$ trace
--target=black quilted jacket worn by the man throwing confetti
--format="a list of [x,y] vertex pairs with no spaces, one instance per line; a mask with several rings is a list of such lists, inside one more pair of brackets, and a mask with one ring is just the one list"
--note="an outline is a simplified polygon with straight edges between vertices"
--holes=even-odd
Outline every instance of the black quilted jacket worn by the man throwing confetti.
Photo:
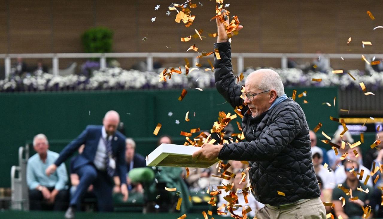
[[[230,44],[216,43],[214,48],[221,56],[214,58],[217,90],[232,107],[243,105],[241,86],[232,74]],[[243,105],[242,115],[246,142],[224,144],[218,158],[249,161],[255,198],[277,206],[319,197],[321,191],[311,162],[309,127],[300,105],[288,98],[256,118]]]

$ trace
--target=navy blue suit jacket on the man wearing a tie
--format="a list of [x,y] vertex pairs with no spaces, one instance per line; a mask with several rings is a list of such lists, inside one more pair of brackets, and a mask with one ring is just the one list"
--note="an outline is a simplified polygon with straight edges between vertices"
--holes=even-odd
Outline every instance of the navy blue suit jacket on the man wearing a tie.
[[[70,142],[60,153],[55,164],[59,166],[67,160],[82,144],[85,144],[84,151],[74,161],[73,169],[93,163],[95,159],[98,142],[101,138],[101,125],[88,125],[85,130],[72,142]],[[126,184],[126,161],[125,161],[125,136],[116,131],[112,138],[112,153],[116,160],[116,173],[118,173],[121,184]]]

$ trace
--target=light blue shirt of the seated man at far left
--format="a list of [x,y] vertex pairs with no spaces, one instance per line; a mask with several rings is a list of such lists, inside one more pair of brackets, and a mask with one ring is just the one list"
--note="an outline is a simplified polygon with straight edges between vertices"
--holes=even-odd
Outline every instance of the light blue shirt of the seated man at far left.
[[28,159],[26,166],[26,183],[29,189],[36,189],[38,185],[54,187],[57,190],[65,188],[68,182],[68,175],[64,163],[58,166],[57,170],[49,177],[45,174],[46,168],[53,164],[58,157],[58,153],[48,150],[45,163],[40,159],[38,153]]

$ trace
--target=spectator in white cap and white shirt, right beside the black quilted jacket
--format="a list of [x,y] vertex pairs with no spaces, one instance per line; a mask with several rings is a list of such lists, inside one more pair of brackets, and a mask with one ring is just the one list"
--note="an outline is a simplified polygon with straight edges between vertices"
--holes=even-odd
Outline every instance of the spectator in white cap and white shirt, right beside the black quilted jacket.
[[[323,151],[319,147],[311,147],[311,155],[313,158],[314,171],[319,176],[321,181],[321,199],[326,199],[327,202],[331,202],[332,189],[335,188],[335,175],[332,170],[324,168],[321,164],[323,161]],[[318,179],[319,182],[319,179]],[[323,196],[323,197],[322,197]],[[325,206],[326,212],[331,212],[331,206]]]

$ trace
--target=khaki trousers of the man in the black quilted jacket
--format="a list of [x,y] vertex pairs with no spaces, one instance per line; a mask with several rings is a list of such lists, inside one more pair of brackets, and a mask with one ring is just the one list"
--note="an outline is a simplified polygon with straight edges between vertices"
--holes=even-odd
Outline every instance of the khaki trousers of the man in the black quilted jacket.
[[303,199],[289,206],[265,205],[255,212],[257,219],[325,219],[326,210],[321,199]]

